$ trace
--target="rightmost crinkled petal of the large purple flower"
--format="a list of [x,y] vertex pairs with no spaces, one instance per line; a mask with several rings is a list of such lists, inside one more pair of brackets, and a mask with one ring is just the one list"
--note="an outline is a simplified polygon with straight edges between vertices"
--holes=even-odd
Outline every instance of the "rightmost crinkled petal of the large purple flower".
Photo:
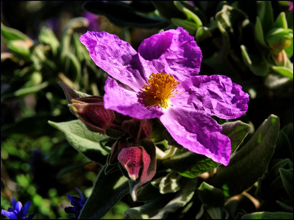
[[182,82],[181,86],[190,94],[188,104],[208,116],[238,118],[248,109],[249,95],[226,76],[195,76]]

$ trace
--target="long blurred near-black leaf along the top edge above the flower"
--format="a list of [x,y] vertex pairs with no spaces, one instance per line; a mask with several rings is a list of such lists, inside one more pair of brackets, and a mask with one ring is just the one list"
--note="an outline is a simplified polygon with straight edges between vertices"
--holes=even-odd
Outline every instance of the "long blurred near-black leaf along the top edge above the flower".
[[166,19],[146,16],[124,2],[88,1],[83,7],[91,13],[106,16],[109,21],[119,27],[163,28],[169,25]]

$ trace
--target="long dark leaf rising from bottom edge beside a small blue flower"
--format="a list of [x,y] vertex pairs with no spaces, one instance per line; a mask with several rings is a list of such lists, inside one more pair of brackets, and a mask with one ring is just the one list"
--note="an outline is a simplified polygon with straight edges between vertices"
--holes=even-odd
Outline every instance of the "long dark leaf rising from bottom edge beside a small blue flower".
[[129,191],[128,179],[120,171],[100,171],[79,219],[100,219]]

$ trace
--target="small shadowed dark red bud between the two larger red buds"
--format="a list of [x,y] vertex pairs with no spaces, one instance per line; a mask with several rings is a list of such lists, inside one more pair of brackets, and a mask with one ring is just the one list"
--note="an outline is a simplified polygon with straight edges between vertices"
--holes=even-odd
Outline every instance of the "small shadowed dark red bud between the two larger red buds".
[[122,128],[131,137],[135,139],[148,138],[152,131],[152,121],[150,119],[137,119],[133,118],[130,120],[125,120],[123,122]]

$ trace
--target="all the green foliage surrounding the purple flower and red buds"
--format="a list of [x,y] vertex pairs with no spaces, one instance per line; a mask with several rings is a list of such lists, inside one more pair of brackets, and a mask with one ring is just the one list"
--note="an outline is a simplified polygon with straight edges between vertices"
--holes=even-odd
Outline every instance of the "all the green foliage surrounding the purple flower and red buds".
[[[65,195],[78,187],[89,196],[80,219],[293,219],[288,4],[2,1],[1,208],[11,207],[14,196],[32,201],[38,219],[66,219]],[[143,140],[111,129],[103,136],[75,120],[67,104],[103,96],[108,76],[79,41],[93,22],[85,11],[99,15],[97,31],[135,49],[154,33],[183,27],[202,50],[200,75],[228,76],[249,93],[248,111],[238,121],[214,118],[231,140],[228,166],[183,148],[158,119]],[[119,123],[128,119],[116,115]],[[132,181],[119,162],[109,164],[117,138],[146,148],[148,172],[156,169],[150,181]]]

